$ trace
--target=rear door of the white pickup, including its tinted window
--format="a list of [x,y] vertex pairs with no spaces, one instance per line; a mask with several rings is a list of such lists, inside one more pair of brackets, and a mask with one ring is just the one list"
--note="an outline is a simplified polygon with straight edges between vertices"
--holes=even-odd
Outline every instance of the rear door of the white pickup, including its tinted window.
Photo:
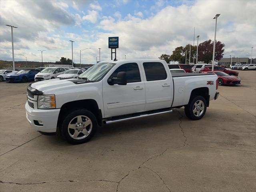
[[[146,86],[145,110],[168,108],[172,104],[172,79],[162,62],[143,62]],[[168,72],[168,74],[167,74]]]

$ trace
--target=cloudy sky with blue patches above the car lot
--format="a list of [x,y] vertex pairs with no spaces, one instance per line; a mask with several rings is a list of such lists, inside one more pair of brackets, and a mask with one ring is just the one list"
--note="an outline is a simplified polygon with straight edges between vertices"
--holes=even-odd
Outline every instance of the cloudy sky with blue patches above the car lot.
[[[214,39],[215,14],[217,40],[225,46],[224,57],[249,57],[254,46],[256,57],[255,0],[37,0],[0,2],[0,59],[12,60],[11,29],[14,29],[15,60],[55,62],[61,56],[74,62],[95,63],[94,56],[110,60],[108,37],[119,36],[117,58],[158,58],[177,46]],[[195,40],[196,44],[196,40]]]

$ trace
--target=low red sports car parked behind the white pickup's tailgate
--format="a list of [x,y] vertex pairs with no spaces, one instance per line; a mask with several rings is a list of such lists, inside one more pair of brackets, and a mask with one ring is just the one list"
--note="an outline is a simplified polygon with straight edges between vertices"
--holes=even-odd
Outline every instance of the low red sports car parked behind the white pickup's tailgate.
[[[208,71],[203,73],[212,73],[212,72]],[[241,79],[238,76],[232,76],[222,71],[214,71],[213,73],[215,73],[218,76],[219,85],[236,85],[236,84],[240,84],[241,82]]]

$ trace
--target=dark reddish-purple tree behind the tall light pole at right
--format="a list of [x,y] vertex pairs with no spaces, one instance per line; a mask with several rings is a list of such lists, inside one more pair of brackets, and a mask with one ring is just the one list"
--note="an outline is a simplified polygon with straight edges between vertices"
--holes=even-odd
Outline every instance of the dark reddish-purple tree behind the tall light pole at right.
[[[223,57],[224,46],[222,42],[218,41],[215,44],[215,55],[214,60],[218,61]],[[213,41],[207,40],[198,45],[198,61],[202,61],[204,63],[209,63],[212,61],[212,52],[213,52]]]

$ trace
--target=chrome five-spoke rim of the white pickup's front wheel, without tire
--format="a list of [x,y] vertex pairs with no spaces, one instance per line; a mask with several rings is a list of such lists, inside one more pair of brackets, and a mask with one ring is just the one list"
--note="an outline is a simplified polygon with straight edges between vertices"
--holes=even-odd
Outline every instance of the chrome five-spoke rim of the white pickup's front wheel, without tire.
[[68,134],[74,139],[86,138],[92,131],[92,121],[84,115],[73,118],[68,124]]

